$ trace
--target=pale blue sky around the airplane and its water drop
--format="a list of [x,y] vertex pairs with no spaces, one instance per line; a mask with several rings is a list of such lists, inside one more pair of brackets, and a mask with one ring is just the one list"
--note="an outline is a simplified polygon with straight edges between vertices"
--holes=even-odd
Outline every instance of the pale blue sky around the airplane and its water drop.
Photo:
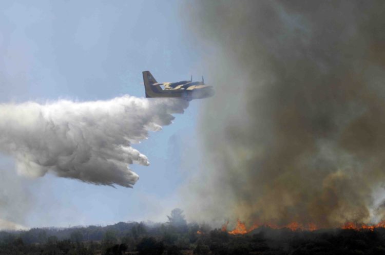
[[[143,70],[158,81],[205,75],[178,1],[2,1],[0,9],[0,103],[143,97]],[[131,166],[140,176],[133,189],[52,175],[29,180],[16,176],[10,157],[0,156],[8,181],[31,194],[28,213],[17,223],[165,221],[189,174],[180,167],[181,155],[198,157],[199,105],[191,102],[172,125],[134,145],[151,164]]]

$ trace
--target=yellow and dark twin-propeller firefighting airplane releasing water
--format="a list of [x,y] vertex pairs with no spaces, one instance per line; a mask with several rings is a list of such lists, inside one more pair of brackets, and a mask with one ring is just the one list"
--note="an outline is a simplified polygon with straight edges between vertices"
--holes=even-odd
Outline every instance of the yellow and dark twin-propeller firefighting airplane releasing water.
[[[149,71],[143,71],[146,97],[181,97],[188,101],[214,96],[213,86],[202,81],[182,80],[178,82],[158,83]],[[162,88],[162,86],[164,88]]]

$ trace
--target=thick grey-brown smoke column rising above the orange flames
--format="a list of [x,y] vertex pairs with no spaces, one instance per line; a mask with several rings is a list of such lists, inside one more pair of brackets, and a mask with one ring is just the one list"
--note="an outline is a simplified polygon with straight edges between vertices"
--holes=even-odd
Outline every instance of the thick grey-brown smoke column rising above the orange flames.
[[385,2],[200,1],[188,13],[216,87],[190,217],[370,223],[385,182]]

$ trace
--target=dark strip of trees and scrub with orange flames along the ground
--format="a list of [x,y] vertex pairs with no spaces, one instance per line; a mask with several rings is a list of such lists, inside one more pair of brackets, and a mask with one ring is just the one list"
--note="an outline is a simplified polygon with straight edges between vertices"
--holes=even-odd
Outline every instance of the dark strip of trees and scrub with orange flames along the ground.
[[[0,254],[383,254],[385,228],[345,224],[338,229],[256,225],[233,230],[205,224],[120,222],[105,227],[0,231]],[[291,227],[291,228],[290,228]],[[254,229],[253,229],[254,228]],[[242,235],[238,235],[242,234]]]

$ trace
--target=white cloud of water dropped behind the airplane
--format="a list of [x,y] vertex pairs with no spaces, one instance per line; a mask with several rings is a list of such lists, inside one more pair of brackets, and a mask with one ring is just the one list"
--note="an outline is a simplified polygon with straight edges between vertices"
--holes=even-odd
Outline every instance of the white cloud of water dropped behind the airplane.
[[12,155],[17,172],[47,172],[84,182],[132,187],[128,165],[148,165],[131,147],[183,113],[184,100],[131,96],[109,101],[0,104],[0,152]]

